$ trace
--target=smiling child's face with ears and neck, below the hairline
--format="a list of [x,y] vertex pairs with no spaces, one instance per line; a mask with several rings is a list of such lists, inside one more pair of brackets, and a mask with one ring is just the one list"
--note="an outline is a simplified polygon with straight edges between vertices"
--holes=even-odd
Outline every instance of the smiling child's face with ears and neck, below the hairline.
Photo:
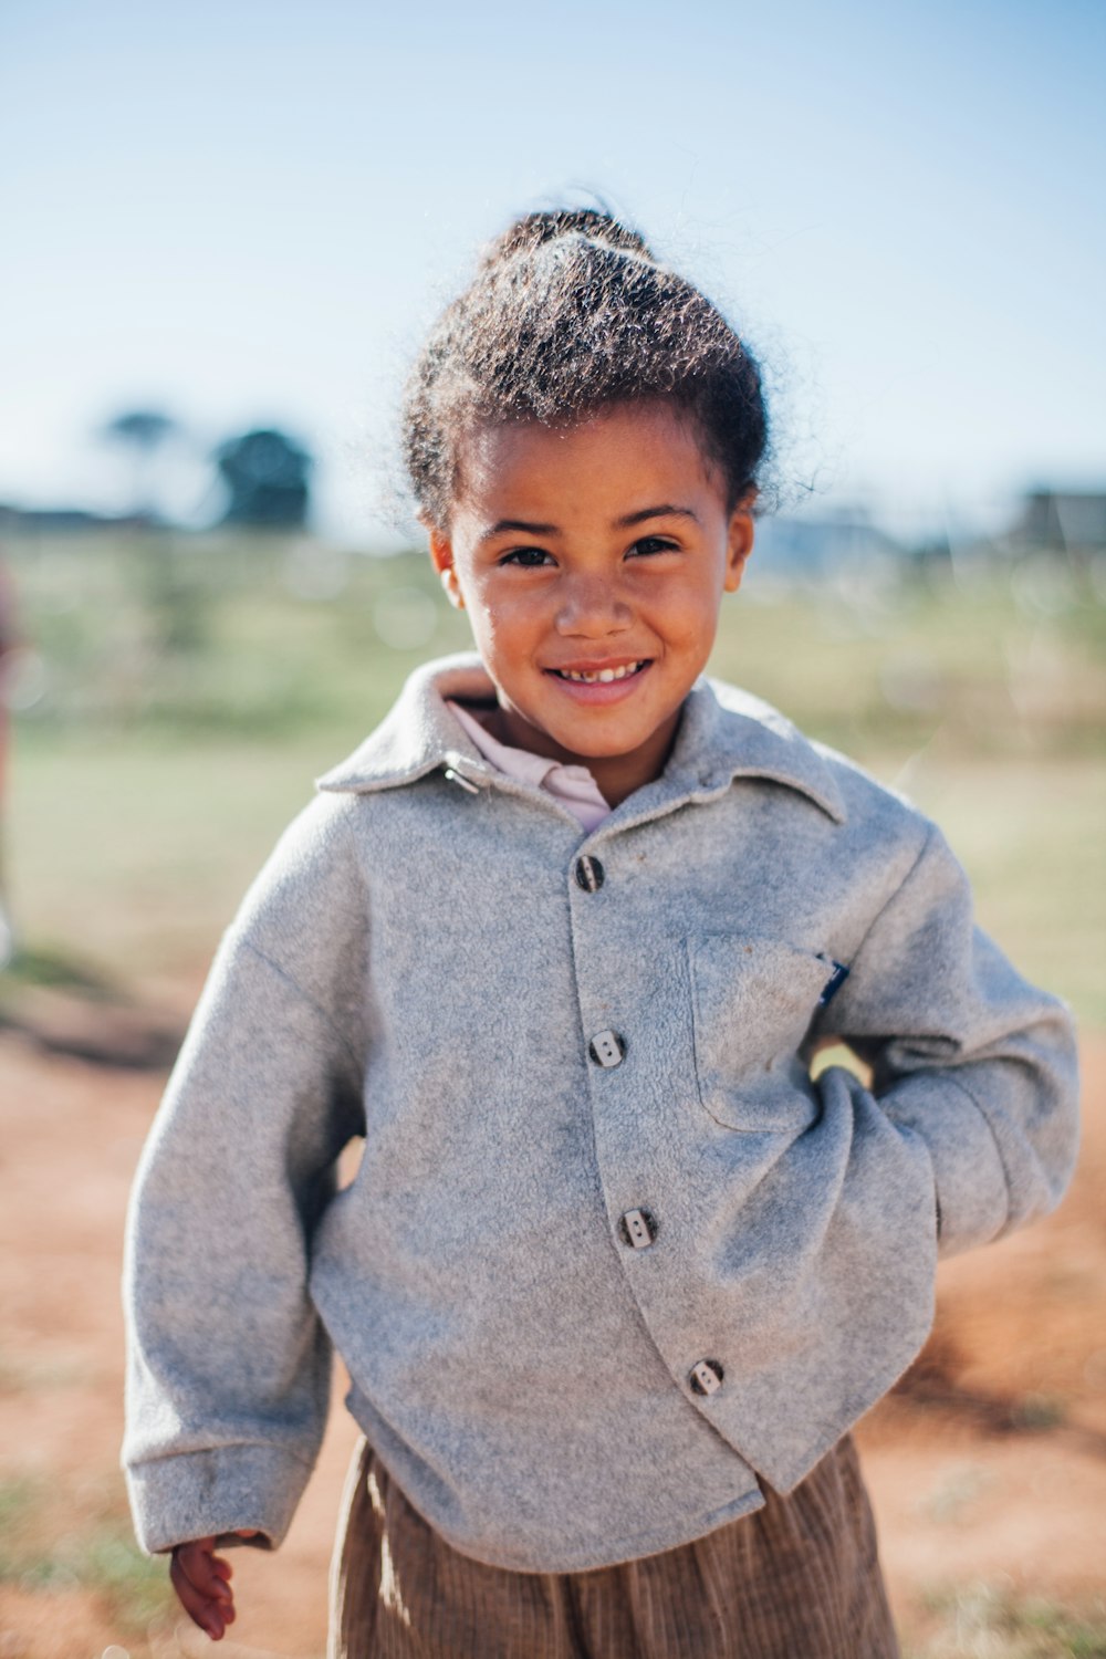
[[617,805],[658,776],[753,546],[725,486],[657,403],[577,425],[483,426],[431,557],[469,612],[494,735],[589,766]]

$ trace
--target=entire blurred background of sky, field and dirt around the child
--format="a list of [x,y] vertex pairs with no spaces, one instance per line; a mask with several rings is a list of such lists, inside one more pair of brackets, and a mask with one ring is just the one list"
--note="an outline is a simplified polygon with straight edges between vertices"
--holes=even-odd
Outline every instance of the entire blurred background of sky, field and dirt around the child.
[[[423,332],[512,216],[595,199],[766,368],[716,672],[937,816],[1083,1022],[1086,1199],[952,1264],[869,1442],[910,1651],[1106,1654],[1104,45],[1098,0],[8,0],[5,1659],[191,1651],[114,1472],[134,1156],[312,778],[468,644],[395,463]],[[237,1651],[322,1652],[340,1453]]]

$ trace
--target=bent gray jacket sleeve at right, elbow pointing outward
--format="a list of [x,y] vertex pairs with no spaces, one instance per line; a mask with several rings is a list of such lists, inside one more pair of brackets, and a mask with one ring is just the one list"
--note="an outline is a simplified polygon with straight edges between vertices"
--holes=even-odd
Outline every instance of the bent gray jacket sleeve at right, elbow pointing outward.
[[1071,1017],[973,926],[935,826],[849,967],[822,1032],[871,1065],[884,1113],[929,1150],[940,1254],[1053,1209],[1078,1148]]

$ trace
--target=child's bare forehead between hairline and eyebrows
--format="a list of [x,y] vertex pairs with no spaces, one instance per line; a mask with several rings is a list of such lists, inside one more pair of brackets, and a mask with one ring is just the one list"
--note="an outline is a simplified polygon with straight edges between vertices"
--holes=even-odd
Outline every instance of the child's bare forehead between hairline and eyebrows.
[[456,509],[478,518],[618,518],[705,496],[721,499],[723,486],[695,428],[655,403],[620,403],[564,426],[476,426],[458,455]]

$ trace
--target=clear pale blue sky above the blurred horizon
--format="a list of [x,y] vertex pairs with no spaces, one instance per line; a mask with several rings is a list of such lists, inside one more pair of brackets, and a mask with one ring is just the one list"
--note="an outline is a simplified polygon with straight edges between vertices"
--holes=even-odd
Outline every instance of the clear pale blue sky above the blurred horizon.
[[0,65],[0,501],[126,504],[90,433],[153,403],[284,423],[363,534],[421,328],[587,186],[748,330],[824,499],[1106,483],[1101,0],[8,0]]

